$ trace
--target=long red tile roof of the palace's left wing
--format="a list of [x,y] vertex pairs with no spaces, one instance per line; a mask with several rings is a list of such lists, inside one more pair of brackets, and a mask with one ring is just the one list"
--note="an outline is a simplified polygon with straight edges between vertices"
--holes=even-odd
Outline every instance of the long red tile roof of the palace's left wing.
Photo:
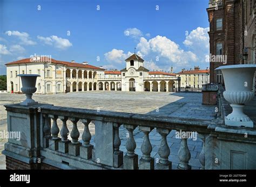
[[[12,61],[11,63],[7,63],[5,65],[12,65],[12,64],[28,64],[28,63],[35,63],[35,62],[44,62],[44,58],[41,57],[42,60],[35,60],[35,61],[31,61],[31,58],[25,58],[25,59],[21,59],[21,60],[17,60],[17,61]],[[55,63],[55,64],[62,64],[65,66],[70,66],[70,67],[82,67],[82,68],[90,68],[90,69],[96,69],[96,70],[104,70],[103,68],[100,67],[96,67],[96,66],[92,66],[89,64],[80,64],[80,63],[71,63],[69,61],[60,61],[60,60],[55,60],[53,58],[51,58],[51,63]]]

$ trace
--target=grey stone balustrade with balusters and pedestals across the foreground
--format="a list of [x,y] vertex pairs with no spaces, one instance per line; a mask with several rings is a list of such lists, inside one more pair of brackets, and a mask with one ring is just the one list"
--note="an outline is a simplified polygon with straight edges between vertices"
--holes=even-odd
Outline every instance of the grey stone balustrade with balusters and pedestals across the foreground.
[[[172,130],[177,130],[185,134],[197,133],[203,140],[203,149],[199,155],[201,169],[256,168],[252,156],[255,152],[256,130],[225,127],[221,118],[181,119],[43,104],[13,104],[5,107],[8,111],[8,130],[21,131],[21,141],[9,139],[3,154],[29,164],[37,163],[39,159],[41,163],[60,169],[172,169],[169,160],[172,149],[166,137]],[[70,129],[68,122],[72,123]],[[78,122],[84,125],[81,134],[77,128]],[[95,125],[93,140],[89,124]],[[126,140],[122,140],[125,141],[126,151],[119,149],[122,143],[120,126],[127,130]],[[135,151],[137,143],[133,131],[136,128],[143,132],[143,143],[140,146],[142,157]],[[149,134],[153,129],[161,137],[157,157],[151,154],[152,140]],[[250,140],[242,137],[245,131],[250,134]],[[180,138],[177,169],[190,170],[191,153],[187,136],[181,135]],[[223,151],[227,151],[226,155],[223,155]],[[238,165],[235,159],[240,158],[242,153],[248,156]]]

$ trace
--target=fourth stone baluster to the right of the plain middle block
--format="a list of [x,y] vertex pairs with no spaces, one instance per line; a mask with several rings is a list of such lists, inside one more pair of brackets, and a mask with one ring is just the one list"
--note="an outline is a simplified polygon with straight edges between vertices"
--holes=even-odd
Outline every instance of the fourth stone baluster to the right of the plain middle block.
[[170,148],[166,140],[166,136],[169,135],[170,131],[170,129],[157,128],[157,132],[161,135],[161,144],[158,149],[160,159],[156,164],[156,169],[172,169],[172,162],[168,160]]

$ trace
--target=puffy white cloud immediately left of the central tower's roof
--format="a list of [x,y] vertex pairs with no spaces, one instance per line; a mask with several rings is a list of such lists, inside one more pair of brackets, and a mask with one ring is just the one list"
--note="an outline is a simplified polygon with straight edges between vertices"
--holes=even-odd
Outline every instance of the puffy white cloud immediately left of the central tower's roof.
[[124,63],[124,60],[126,58],[128,58],[129,56],[131,56],[131,52],[128,52],[127,54],[124,53],[123,50],[117,50],[117,49],[113,49],[110,52],[107,52],[104,54],[105,58],[107,61],[109,61],[110,63]]

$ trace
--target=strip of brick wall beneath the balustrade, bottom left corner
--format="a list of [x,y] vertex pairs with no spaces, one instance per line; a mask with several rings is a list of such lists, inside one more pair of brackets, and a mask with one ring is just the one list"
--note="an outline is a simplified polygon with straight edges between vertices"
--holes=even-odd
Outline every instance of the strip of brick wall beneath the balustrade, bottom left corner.
[[59,169],[59,168],[53,167],[52,165],[45,164],[45,163],[28,164],[28,163],[25,163],[22,161],[18,161],[9,156],[5,156],[5,161],[6,161],[6,169],[8,169],[8,170],[31,170],[31,169],[53,170],[53,169]]

